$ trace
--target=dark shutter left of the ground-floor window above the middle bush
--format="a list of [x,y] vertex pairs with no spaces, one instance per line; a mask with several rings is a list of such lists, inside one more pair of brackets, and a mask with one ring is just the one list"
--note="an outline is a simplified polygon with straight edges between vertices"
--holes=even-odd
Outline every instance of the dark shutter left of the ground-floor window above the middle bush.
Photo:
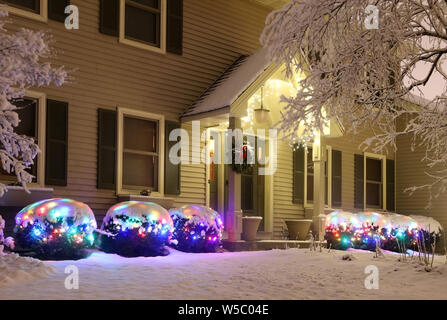
[[98,109],[98,189],[116,186],[116,111]]

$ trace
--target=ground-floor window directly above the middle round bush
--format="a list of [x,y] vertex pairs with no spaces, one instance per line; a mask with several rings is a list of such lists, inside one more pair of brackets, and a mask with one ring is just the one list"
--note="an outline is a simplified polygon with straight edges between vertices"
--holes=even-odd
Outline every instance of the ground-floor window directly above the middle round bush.
[[150,189],[163,194],[163,116],[138,111],[119,113],[118,193]]

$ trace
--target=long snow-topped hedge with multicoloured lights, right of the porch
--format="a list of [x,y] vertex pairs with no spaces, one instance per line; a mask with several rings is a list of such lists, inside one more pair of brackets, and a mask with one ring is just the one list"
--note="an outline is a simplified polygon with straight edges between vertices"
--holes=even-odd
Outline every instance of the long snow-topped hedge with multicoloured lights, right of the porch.
[[325,239],[334,249],[380,247],[396,252],[431,252],[431,246],[440,243],[442,236],[441,224],[424,216],[335,211],[326,218]]

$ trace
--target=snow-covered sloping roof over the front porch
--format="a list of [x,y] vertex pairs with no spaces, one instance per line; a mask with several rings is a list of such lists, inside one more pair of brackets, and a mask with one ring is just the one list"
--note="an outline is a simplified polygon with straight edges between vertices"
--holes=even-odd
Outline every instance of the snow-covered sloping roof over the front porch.
[[266,49],[239,57],[181,116],[230,107],[270,66]]

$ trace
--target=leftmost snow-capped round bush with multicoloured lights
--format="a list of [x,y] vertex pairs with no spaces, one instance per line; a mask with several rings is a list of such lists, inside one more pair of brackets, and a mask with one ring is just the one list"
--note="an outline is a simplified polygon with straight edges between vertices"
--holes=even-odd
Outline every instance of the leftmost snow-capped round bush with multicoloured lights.
[[48,199],[23,208],[15,218],[20,249],[39,259],[79,259],[94,243],[96,220],[88,205],[71,199]]

